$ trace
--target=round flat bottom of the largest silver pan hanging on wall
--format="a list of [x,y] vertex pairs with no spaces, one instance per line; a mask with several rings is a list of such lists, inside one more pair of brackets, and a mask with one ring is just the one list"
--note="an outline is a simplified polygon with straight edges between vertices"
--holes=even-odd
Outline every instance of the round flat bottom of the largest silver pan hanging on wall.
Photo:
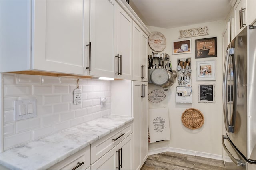
[[153,84],[162,86],[169,81],[169,75],[164,69],[154,69],[150,75]]

